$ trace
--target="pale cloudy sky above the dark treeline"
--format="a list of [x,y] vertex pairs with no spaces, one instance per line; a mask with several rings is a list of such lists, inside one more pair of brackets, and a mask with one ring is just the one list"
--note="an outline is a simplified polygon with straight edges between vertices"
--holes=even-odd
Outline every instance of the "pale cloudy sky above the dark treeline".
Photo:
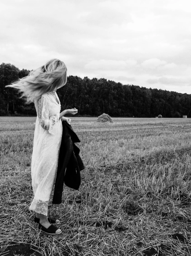
[[191,94],[189,0],[1,0],[0,64]]

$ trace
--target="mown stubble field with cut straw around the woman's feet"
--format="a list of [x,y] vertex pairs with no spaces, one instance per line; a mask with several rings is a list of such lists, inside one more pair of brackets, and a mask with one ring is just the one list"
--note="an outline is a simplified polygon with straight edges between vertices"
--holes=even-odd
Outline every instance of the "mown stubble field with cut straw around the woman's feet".
[[29,210],[36,118],[0,117],[0,256],[191,255],[191,119],[71,119],[86,168],[52,237]]

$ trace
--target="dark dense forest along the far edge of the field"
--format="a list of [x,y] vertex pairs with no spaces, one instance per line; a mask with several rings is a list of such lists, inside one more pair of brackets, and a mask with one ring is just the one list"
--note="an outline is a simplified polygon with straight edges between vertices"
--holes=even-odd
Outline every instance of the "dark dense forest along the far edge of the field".
[[[30,70],[19,70],[10,63],[0,65],[0,116],[36,116],[34,103],[26,104],[18,90],[5,87],[25,77]],[[122,85],[104,78],[68,76],[57,90],[61,111],[76,107],[76,116],[182,117],[191,108],[191,95],[137,85]],[[191,116],[191,112],[188,117]]]

